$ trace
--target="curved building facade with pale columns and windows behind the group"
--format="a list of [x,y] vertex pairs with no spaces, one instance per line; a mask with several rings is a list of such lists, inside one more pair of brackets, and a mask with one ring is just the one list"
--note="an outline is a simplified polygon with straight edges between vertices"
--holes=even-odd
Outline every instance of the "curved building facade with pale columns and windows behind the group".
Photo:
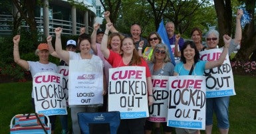
[[[86,33],[93,30],[95,20],[102,20],[101,5],[98,0],[76,0],[84,8],[77,8],[67,0],[43,0],[43,6],[35,7],[35,21],[39,34],[55,35],[55,28],[62,27],[63,34],[80,34],[80,27],[86,27]],[[0,36],[12,34],[13,16],[18,12],[12,1],[0,0]],[[19,14],[18,14],[19,15]],[[98,16],[97,16],[98,15]],[[29,27],[22,23],[21,27]]]

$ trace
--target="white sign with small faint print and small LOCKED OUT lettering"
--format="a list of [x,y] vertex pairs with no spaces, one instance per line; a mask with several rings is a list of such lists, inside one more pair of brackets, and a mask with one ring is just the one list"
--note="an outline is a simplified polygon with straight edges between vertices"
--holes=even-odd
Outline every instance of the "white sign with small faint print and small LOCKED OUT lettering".
[[70,60],[68,82],[69,105],[103,103],[102,60]]

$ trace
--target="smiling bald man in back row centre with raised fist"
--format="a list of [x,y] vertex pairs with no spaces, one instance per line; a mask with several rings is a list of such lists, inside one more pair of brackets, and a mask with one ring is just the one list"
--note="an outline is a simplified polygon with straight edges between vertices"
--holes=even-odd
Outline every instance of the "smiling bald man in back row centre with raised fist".
[[[104,17],[106,19],[106,23],[111,23],[110,18],[109,18],[110,12],[106,11],[104,13]],[[118,33],[118,31],[112,27],[112,29],[110,29],[111,33]],[[148,46],[148,40],[146,38],[143,38],[141,36],[142,33],[142,29],[140,27],[140,25],[138,23],[134,23],[132,24],[132,26],[130,27],[130,34],[123,34],[125,37],[131,37],[136,45],[136,50],[142,50],[142,52],[144,52],[144,49]],[[140,42],[143,42],[143,46],[140,47],[139,44]]]

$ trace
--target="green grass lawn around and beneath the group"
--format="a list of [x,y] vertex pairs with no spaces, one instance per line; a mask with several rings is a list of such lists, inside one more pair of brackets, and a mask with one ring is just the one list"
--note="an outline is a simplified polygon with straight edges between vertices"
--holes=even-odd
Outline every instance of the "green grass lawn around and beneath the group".
[[[229,103],[229,133],[255,133],[256,131],[256,78],[234,76],[236,96]],[[0,133],[9,133],[11,118],[19,113],[33,113],[31,107],[31,82],[0,84]],[[61,133],[57,118],[55,133]],[[69,124],[70,125],[70,124]],[[204,131],[201,131],[204,133]],[[213,134],[219,133],[216,123]]]

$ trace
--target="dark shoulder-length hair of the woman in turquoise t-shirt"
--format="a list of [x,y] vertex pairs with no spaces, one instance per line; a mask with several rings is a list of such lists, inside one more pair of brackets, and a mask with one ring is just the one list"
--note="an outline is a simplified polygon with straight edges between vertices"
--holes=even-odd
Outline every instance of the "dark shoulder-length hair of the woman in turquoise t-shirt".
[[184,49],[186,49],[188,46],[190,46],[191,48],[193,48],[195,50],[195,56],[193,57],[193,62],[196,63],[199,61],[199,51],[197,50],[195,43],[193,41],[186,41],[184,42],[183,46],[182,46],[182,56],[180,56],[180,61],[183,62],[184,64],[186,64],[186,58],[184,57]]

